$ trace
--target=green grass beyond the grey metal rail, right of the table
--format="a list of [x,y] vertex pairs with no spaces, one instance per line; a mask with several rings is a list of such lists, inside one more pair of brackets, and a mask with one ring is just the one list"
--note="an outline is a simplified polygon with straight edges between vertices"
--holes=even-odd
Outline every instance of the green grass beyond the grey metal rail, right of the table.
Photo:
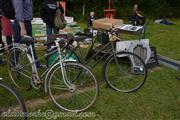
[[180,61],[180,21],[176,20],[175,23],[167,26],[150,22],[147,25],[147,36],[159,54]]

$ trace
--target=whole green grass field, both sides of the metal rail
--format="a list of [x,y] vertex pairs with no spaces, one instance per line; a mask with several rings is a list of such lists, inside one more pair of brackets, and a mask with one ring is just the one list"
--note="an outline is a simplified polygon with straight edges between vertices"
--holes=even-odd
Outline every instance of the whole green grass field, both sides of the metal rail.
[[[176,23],[174,26],[165,26],[153,24],[149,20],[146,36],[150,39],[150,45],[155,46],[159,54],[180,61],[180,20],[174,20],[174,22]],[[12,85],[6,66],[0,67],[0,75]],[[47,101],[48,94],[45,94],[43,89],[21,90],[20,93],[26,101],[32,99],[36,101],[40,98],[47,102],[39,105],[38,108],[28,107],[29,112],[52,110],[60,114],[61,117],[55,117],[58,120],[180,120],[180,81],[175,79],[175,76],[180,76],[179,71],[164,66],[149,70],[144,86],[135,93],[127,94],[107,87],[102,82],[101,68],[102,64],[99,64],[93,69],[100,83],[100,94],[95,105],[87,111],[92,112],[93,115],[90,117],[63,116],[59,113],[63,111],[56,108],[52,102]],[[40,103],[37,101],[37,104]],[[45,118],[32,117],[29,119],[44,120]]]

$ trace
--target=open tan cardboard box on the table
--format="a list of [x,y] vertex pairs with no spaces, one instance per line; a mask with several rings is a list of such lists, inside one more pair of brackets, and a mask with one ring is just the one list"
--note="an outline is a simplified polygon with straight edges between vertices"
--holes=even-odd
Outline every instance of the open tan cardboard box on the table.
[[94,29],[110,30],[123,24],[122,19],[101,18],[93,21]]

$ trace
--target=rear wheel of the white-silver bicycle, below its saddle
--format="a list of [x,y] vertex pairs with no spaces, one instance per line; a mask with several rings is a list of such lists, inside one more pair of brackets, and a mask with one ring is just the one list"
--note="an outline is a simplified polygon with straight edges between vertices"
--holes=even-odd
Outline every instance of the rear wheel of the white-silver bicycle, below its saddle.
[[17,87],[28,88],[32,79],[32,67],[27,53],[13,48],[8,56],[9,75]]

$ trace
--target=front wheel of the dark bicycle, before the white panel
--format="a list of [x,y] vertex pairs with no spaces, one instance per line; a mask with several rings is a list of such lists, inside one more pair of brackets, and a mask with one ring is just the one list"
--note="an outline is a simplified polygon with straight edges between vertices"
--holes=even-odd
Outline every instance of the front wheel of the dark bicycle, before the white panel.
[[143,86],[147,69],[144,61],[136,54],[118,52],[107,58],[102,75],[112,89],[129,93]]

